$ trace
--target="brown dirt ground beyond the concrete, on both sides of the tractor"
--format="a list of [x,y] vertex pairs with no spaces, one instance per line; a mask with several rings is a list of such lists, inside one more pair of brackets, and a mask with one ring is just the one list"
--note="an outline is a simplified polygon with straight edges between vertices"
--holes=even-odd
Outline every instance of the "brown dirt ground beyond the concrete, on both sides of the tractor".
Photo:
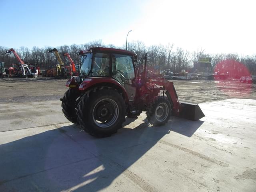
[[[58,100],[67,90],[66,79],[0,78],[0,102]],[[256,84],[238,80],[172,80],[181,102],[202,103],[229,98],[256,99]]]

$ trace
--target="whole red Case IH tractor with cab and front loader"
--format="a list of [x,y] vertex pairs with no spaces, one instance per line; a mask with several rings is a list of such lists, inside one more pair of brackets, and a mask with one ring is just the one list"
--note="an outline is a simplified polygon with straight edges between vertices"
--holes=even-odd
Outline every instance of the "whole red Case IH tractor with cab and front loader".
[[96,137],[114,134],[125,116],[146,111],[154,126],[168,122],[171,115],[199,120],[198,105],[180,103],[172,82],[163,76],[148,76],[146,56],[113,48],[80,51],[80,76],[71,77],[62,101],[66,118]]

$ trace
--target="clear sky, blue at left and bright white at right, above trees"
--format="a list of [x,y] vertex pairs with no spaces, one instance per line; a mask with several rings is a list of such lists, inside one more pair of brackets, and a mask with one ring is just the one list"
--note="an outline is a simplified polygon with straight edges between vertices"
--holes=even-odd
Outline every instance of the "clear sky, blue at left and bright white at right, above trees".
[[190,52],[256,54],[254,0],[0,0],[0,46],[102,40],[174,44]]

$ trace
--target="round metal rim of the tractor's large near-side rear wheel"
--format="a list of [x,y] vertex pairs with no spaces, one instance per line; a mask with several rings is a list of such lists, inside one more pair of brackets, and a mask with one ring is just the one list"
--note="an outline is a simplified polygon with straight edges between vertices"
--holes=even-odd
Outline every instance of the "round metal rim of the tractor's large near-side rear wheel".
[[92,110],[93,121],[101,128],[112,126],[118,119],[118,115],[118,105],[109,98],[98,101]]

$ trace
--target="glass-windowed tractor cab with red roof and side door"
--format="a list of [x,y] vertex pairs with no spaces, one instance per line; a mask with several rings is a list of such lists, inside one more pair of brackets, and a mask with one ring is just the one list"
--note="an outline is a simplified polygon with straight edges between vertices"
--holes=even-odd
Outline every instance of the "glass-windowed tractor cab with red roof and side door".
[[[80,78],[97,82],[113,82],[128,90],[128,100],[134,100],[136,95],[136,54],[113,48],[91,48],[81,51]],[[104,81],[102,81],[104,78]],[[107,81],[107,82],[106,82]],[[85,84],[85,83],[84,83]],[[79,86],[83,90],[84,84]]]

